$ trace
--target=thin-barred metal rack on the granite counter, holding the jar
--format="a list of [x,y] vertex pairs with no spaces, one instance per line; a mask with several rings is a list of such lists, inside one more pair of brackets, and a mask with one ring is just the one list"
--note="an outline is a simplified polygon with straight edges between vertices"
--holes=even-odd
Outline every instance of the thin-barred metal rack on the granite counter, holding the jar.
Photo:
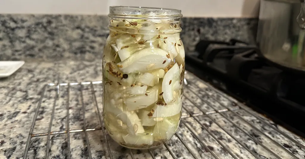
[[[196,77],[194,77],[196,78]],[[209,84],[206,84],[205,82],[201,81],[200,79],[198,79],[197,81],[199,82],[202,82],[204,83],[205,85],[207,85],[207,87],[209,89],[211,89],[212,91],[214,92],[217,92],[219,95],[221,95],[222,98],[225,98],[229,101],[233,101],[232,99],[230,99],[230,97],[224,95],[222,92],[220,92],[219,90],[213,88],[211,85]],[[189,84],[188,84],[188,83]],[[185,91],[189,91],[189,92],[192,92],[194,94],[197,95],[197,93],[194,92],[194,90],[191,88],[190,85],[196,85],[194,82],[188,80],[186,82],[185,80]],[[84,91],[84,85],[86,86],[90,86],[90,91],[91,91],[91,94],[93,95],[93,98],[94,98],[94,103],[95,103],[95,107],[97,108],[97,111],[98,111],[98,118],[99,118],[99,122],[100,122],[100,126],[99,127],[96,127],[96,128],[93,128],[93,129],[88,129],[86,127],[87,125],[87,121],[86,121],[86,117],[85,117],[85,104],[84,104],[84,95],[83,95],[83,91]],[[67,158],[70,159],[70,134],[71,133],[80,133],[80,132],[83,132],[85,134],[85,141],[86,141],[86,145],[87,145],[87,150],[88,150],[88,158],[92,158],[92,155],[91,155],[91,148],[90,148],[90,141],[89,141],[89,138],[88,138],[88,132],[89,131],[102,131],[103,133],[103,137],[106,141],[106,147],[107,147],[107,151],[108,151],[108,154],[109,156],[107,156],[106,158],[111,158],[113,159],[113,154],[112,154],[112,150],[109,146],[109,140],[112,140],[112,139],[109,139],[106,137],[106,130],[103,126],[103,119],[102,119],[102,116],[101,116],[101,111],[100,111],[100,108],[99,108],[99,105],[98,105],[98,100],[97,100],[97,96],[96,96],[96,90],[95,90],[95,86],[96,85],[102,85],[102,81],[93,81],[93,82],[80,82],[80,83],[49,83],[49,84],[46,84],[43,89],[42,89],[42,93],[41,93],[41,97],[39,99],[39,102],[38,102],[38,106],[37,106],[37,109],[36,109],[36,112],[35,112],[35,115],[34,115],[34,119],[33,119],[33,122],[32,122],[32,125],[30,127],[30,133],[29,133],[29,136],[28,136],[28,139],[27,139],[27,143],[26,143],[26,147],[25,147],[25,151],[24,151],[24,155],[23,155],[23,159],[26,159],[27,158],[27,154],[28,154],[28,151],[29,151],[29,147],[30,147],[30,143],[31,143],[31,139],[33,139],[34,137],[41,137],[41,136],[47,136],[47,143],[46,143],[46,153],[45,153],[45,158],[48,159],[49,158],[49,148],[50,148],[50,138],[52,135],[56,135],[56,134],[67,134]],[[65,86],[67,87],[67,105],[66,105],[66,119],[67,119],[67,126],[66,126],[66,130],[64,131],[51,131],[51,127],[52,127],[52,121],[53,121],[53,118],[54,118],[54,114],[55,114],[55,107],[56,107],[56,101],[57,99],[59,98],[59,94],[60,94],[60,90],[63,89],[62,86]],[[51,114],[51,120],[50,120],[50,123],[49,123],[49,127],[48,127],[48,132],[45,132],[45,133],[33,133],[33,130],[34,130],[34,126],[35,126],[35,121],[37,119],[37,116],[38,116],[38,112],[39,112],[39,109],[41,108],[41,102],[42,100],[44,99],[44,94],[46,92],[46,89],[48,87],[56,87],[56,95],[55,95],[55,99],[54,99],[54,104],[52,105],[52,114]],[[70,125],[70,114],[69,114],[69,107],[70,107],[70,90],[71,90],[71,87],[78,87],[79,88],[79,91],[80,91],[80,94],[81,94],[81,106],[82,106],[82,114],[83,114],[83,123],[84,123],[84,126],[83,126],[83,129],[76,129],[76,130],[71,130],[69,125]],[[208,95],[208,94],[207,94]],[[225,109],[219,109],[217,110],[215,108],[215,106],[213,106],[212,104],[210,104],[209,102],[207,102],[205,99],[203,99],[202,97],[200,96],[197,96],[199,99],[201,99],[205,104],[207,104],[208,106],[210,106],[210,108],[213,108],[214,110],[213,111],[204,111],[199,105],[196,104],[196,102],[192,101],[192,99],[189,97],[189,96],[186,96],[184,95],[184,100],[188,100],[189,102],[192,103],[192,105],[194,105],[196,108],[198,108],[200,110],[200,113],[195,113],[193,114],[189,109],[187,109],[184,105],[182,106],[184,111],[188,113],[188,115],[184,115],[182,116],[181,118],[181,123],[182,125],[184,125],[193,135],[193,137],[195,137],[199,143],[205,148],[205,150],[207,152],[209,152],[214,158],[216,159],[219,159],[220,156],[217,156],[217,154],[215,154],[213,152],[213,150],[211,150],[209,148],[208,145],[206,145],[206,143],[204,143],[204,141],[198,136],[198,134],[196,134],[196,132],[191,128],[191,126],[189,126],[189,124],[184,120],[186,118],[192,118],[194,119],[197,123],[199,123],[199,125],[204,129],[206,130],[216,141],[217,143],[219,143],[221,145],[221,147],[228,152],[228,154],[231,155],[231,157],[237,159],[239,158],[236,154],[234,154],[231,150],[230,150],[230,147],[228,147],[224,141],[218,139],[209,129],[206,128],[206,126],[204,124],[202,124],[198,118],[196,118],[197,116],[200,116],[200,115],[204,115],[206,117],[208,117],[211,121],[213,121],[213,123],[215,123],[217,126],[219,126],[221,128],[221,130],[223,130],[225,133],[227,133],[232,139],[234,139],[237,143],[239,143],[246,151],[248,151],[250,154],[253,155],[254,158],[261,158],[260,155],[257,153],[257,152],[254,152],[253,150],[250,150],[249,147],[247,147],[241,140],[239,140],[237,137],[235,137],[231,132],[229,132],[228,130],[226,130],[223,126],[221,126],[220,123],[218,123],[216,120],[214,120],[211,115],[212,114],[219,114],[221,115],[224,119],[226,119],[228,122],[230,122],[234,127],[236,127],[237,129],[241,130],[247,137],[251,138],[253,141],[255,141],[255,143],[257,143],[258,145],[260,145],[261,147],[264,148],[264,150],[266,150],[268,153],[272,154],[275,158],[278,158],[278,159],[281,159],[281,157],[279,156],[279,154],[277,154],[276,152],[272,151],[270,148],[268,148],[266,145],[264,145],[263,143],[261,143],[259,140],[257,140],[255,137],[253,137],[253,135],[251,135],[249,132],[247,132],[246,130],[242,129],[241,127],[239,127],[232,119],[228,118],[226,115],[224,115],[224,112],[231,112],[234,114],[234,116],[238,117],[241,121],[245,122],[246,124],[248,124],[249,126],[251,126],[254,130],[257,130],[258,132],[260,132],[261,134],[264,135],[264,137],[266,137],[267,139],[269,139],[272,143],[274,143],[275,145],[277,145],[282,151],[284,151],[285,153],[289,154],[290,157],[292,158],[296,158],[298,159],[299,157],[297,157],[294,153],[292,153],[288,148],[282,146],[280,143],[278,143],[277,141],[275,141],[274,139],[272,139],[271,137],[269,137],[267,134],[265,134],[263,131],[261,131],[259,128],[257,128],[257,126],[253,125],[252,123],[250,123],[249,121],[247,121],[246,119],[244,119],[244,117],[242,117],[239,113],[236,112],[236,110],[244,110],[246,111],[247,113],[249,113],[251,116],[257,118],[261,123],[263,123],[264,125],[272,128],[274,131],[276,131],[277,133],[283,135],[287,140],[290,140],[291,142],[293,142],[296,146],[298,146],[301,150],[305,151],[305,146],[300,143],[299,141],[295,140],[294,138],[290,137],[289,135],[287,135],[286,133],[284,133],[283,131],[277,129],[276,127],[274,127],[273,125],[271,125],[270,123],[266,122],[265,119],[261,118],[260,116],[258,116],[256,113],[250,111],[249,109],[246,108],[246,106],[244,106],[242,103],[237,103],[236,107],[228,107],[227,105],[224,105],[222,104],[221,102],[218,102],[222,107],[224,107]],[[208,95],[208,97],[212,100],[214,100],[215,102],[217,102],[217,99],[216,97],[214,97],[213,95]],[[192,155],[192,157],[198,159],[198,156],[195,155],[195,153],[190,149],[190,147],[188,147],[188,144],[187,144],[187,141],[183,140],[182,137],[178,134],[178,133],[175,133],[175,136],[181,141],[181,143],[184,145],[185,149],[188,150],[188,152]],[[167,149],[167,151],[169,152],[169,154],[174,158],[174,159],[177,159],[177,156],[174,154],[174,152],[170,149],[170,147],[168,146],[167,143],[163,143],[165,148]],[[130,157],[132,159],[135,159],[135,156],[132,152],[131,149],[128,149],[129,151],[129,154],[130,154]],[[153,150],[148,150],[148,154],[153,158],[155,159],[155,155],[153,153]]]

